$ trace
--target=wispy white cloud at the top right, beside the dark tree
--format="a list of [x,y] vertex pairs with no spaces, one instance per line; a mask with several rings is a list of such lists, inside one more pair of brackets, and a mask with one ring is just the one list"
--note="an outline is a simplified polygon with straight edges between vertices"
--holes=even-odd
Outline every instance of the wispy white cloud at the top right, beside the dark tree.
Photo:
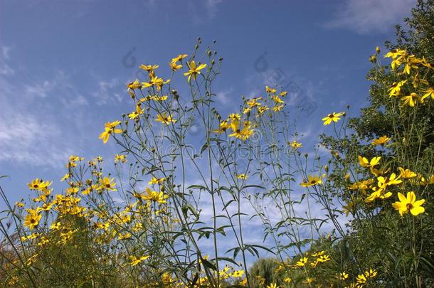
[[346,0],[327,28],[357,33],[386,32],[410,14],[416,0]]

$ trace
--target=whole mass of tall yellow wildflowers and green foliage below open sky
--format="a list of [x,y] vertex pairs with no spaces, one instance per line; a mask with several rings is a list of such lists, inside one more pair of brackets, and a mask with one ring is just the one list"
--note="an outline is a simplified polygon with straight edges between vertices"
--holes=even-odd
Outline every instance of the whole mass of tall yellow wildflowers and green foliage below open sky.
[[[223,117],[213,90],[223,59],[200,39],[169,78],[141,65],[147,77],[127,85],[132,111],[100,134],[120,147],[113,174],[100,156],[73,155],[63,191],[36,178],[29,201],[11,204],[1,190],[1,284],[432,285],[433,22],[434,2],[420,0],[386,43],[391,64],[379,48],[370,58],[369,107],[322,118],[334,132],[321,136],[325,161],[302,154],[280,87]],[[248,238],[253,221],[262,242]],[[260,255],[272,258],[249,269]]]

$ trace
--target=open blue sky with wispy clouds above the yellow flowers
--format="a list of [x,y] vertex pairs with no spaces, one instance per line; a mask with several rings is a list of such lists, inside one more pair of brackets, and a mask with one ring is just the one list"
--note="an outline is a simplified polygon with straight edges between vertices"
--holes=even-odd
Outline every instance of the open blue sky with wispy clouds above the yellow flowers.
[[[366,105],[369,55],[414,2],[1,1],[0,175],[9,175],[1,186],[16,201],[32,178],[63,176],[70,154],[112,159],[120,150],[97,136],[130,112],[125,84],[142,63],[163,67],[190,53],[198,36],[204,46],[215,39],[224,58],[221,112],[280,71],[317,104],[309,114],[293,107],[313,146],[324,115]],[[261,56],[267,69],[258,70]]]

